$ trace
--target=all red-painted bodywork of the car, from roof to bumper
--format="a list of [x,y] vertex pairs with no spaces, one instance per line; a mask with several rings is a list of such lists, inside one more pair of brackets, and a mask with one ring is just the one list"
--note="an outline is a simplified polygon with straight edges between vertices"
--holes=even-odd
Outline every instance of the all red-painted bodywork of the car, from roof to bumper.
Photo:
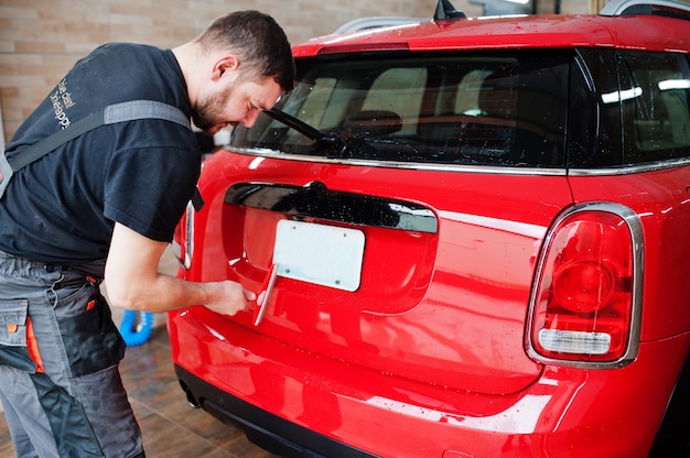
[[[687,54],[690,28],[653,17],[645,26],[636,17],[436,21],[324,36],[293,52],[299,62],[377,50],[579,46]],[[255,303],[234,317],[201,306],[170,313],[173,362],[216,394],[362,450],[352,456],[646,456],[687,371],[688,163],[474,168],[231,146],[215,153],[198,183],[205,205],[181,222],[192,229],[177,237],[188,251],[179,276],[259,292],[279,222],[297,220],[360,232],[360,283],[343,291],[278,276],[259,325]],[[260,201],[268,195],[252,205],[229,197],[242,186],[409,205],[434,226],[295,217],[268,209]],[[635,275],[621,282],[640,282],[629,292],[639,314],[630,319],[633,357],[603,364],[538,355],[530,336],[550,235],[563,215],[592,204],[625,210],[619,226],[629,226],[632,251],[642,253]],[[216,394],[193,396],[223,407]]]

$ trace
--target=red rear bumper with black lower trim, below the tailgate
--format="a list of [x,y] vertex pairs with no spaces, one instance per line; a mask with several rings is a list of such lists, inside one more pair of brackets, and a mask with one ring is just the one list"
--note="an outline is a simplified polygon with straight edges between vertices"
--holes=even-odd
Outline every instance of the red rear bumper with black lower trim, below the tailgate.
[[177,374],[202,407],[265,448],[310,457],[645,457],[688,351],[687,336],[645,344],[623,369],[546,367],[528,389],[488,395],[376,373],[226,320],[220,334],[188,312],[169,328]]

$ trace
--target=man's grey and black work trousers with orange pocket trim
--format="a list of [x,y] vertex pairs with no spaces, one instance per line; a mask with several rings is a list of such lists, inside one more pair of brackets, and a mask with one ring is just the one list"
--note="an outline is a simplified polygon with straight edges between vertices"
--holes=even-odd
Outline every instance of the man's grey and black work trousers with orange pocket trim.
[[0,252],[0,401],[18,458],[141,458],[98,281]]

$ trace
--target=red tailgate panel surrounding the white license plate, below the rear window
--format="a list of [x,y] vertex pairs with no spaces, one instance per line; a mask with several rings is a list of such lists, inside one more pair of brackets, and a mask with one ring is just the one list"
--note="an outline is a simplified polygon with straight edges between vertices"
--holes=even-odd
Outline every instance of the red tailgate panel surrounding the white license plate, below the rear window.
[[[202,265],[190,280],[231,279],[259,291],[268,274],[276,223],[285,217],[225,204],[231,184],[302,187],[319,178],[328,189],[403,200],[424,196],[424,206],[438,216],[438,235],[363,228],[367,250],[355,293],[280,277],[262,334],[382,372],[418,373],[420,381],[477,392],[513,393],[540,373],[522,349],[524,307],[540,239],[571,204],[564,177],[304,164],[230,152],[212,156],[204,168],[204,177],[213,178],[200,181],[206,203],[195,223],[205,233],[196,236],[224,243],[195,244],[194,258]],[[496,188],[510,189],[500,205],[494,203]],[[535,206],[543,188],[550,189],[549,197]],[[251,326],[252,313],[236,320]],[[489,339],[486,326],[495,329]],[[409,342],[401,346],[391,336],[406,336]],[[464,336],[463,341],[454,336]],[[405,347],[424,351],[406,355]]]

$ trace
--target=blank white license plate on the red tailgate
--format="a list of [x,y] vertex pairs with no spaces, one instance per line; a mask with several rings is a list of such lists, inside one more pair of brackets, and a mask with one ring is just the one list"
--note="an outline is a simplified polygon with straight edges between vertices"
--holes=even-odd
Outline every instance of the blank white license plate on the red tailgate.
[[356,291],[364,242],[360,230],[283,219],[276,228],[273,264],[280,276]]

